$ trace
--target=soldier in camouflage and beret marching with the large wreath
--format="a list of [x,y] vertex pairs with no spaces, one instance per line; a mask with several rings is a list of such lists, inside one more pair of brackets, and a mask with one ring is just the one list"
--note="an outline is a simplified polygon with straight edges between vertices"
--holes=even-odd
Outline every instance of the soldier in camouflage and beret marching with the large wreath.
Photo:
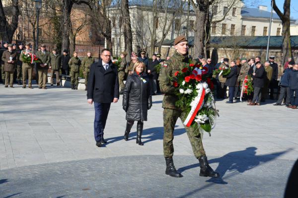
[[[172,85],[171,78],[175,77],[175,72],[181,71],[184,67],[187,67],[190,62],[195,63],[195,60],[188,57],[188,42],[185,36],[178,36],[174,41],[174,47],[176,51],[169,60],[162,64],[158,80],[160,91],[164,93],[162,108],[164,128],[163,153],[166,161],[165,174],[171,177],[182,177],[182,175],[177,172],[172,158],[174,153],[173,132],[177,119],[180,117],[183,122],[187,116],[187,112],[175,106],[175,102],[178,98],[175,95],[175,88]],[[194,155],[200,162],[200,176],[219,177],[219,174],[214,172],[208,164],[199,130],[186,126],[185,130],[193,148]]]

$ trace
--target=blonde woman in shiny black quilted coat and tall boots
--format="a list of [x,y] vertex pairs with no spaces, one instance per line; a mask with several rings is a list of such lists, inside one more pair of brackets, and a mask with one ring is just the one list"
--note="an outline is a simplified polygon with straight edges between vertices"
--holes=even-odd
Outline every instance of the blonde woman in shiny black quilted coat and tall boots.
[[149,75],[146,74],[146,66],[143,62],[137,61],[134,64],[134,73],[127,77],[123,90],[122,106],[126,112],[126,130],[124,140],[128,135],[135,121],[137,124],[137,144],[143,145],[141,138],[144,121],[147,121],[147,110],[152,106]]

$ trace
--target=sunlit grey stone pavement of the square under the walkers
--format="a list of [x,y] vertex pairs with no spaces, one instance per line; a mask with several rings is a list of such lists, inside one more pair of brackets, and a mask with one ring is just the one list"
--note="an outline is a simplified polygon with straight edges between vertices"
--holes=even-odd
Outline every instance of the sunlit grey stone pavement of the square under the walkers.
[[162,96],[153,96],[143,147],[136,126],[123,140],[122,98],[111,105],[103,148],[95,146],[94,109],[86,92],[0,85],[0,198],[283,197],[298,158],[297,110],[217,101],[220,117],[203,144],[220,179],[199,177],[181,121],[174,162],[183,178],[164,174]]

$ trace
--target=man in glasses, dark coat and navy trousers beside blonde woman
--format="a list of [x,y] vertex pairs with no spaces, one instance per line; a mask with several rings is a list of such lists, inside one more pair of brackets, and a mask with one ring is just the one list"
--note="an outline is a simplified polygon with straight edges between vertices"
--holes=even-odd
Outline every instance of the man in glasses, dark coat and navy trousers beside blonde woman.
[[118,68],[111,61],[110,50],[103,49],[100,57],[98,62],[90,66],[87,85],[87,102],[94,102],[94,138],[97,147],[106,143],[103,130],[111,102],[117,102],[119,99]]

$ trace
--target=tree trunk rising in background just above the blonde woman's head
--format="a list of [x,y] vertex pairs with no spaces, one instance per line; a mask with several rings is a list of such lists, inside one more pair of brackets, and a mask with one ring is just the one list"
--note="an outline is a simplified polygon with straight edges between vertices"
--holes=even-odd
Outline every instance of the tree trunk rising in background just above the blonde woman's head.
[[[121,0],[121,12],[124,30],[124,49],[127,52],[127,54],[131,54],[133,51],[133,34],[129,15],[128,0]],[[129,58],[130,56],[127,57]]]

